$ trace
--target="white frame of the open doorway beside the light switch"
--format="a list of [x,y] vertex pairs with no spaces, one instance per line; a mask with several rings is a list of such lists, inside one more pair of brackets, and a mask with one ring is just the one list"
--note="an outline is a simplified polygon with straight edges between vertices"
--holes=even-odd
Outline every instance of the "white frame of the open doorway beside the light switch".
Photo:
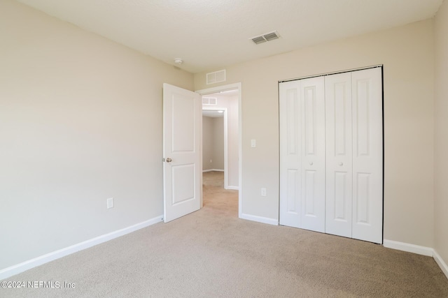
[[[242,154],[241,154],[241,144],[242,144],[242,126],[241,126],[241,83],[235,83],[235,84],[228,84],[218,87],[212,87],[207,89],[201,89],[197,90],[196,92],[200,94],[201,96],[204,96],[206,94],[212,94],[217,93],[220,91],[228,91],[228,90],[238,90],[238,217],[241,218],[241,210],[242,210],[242,193],[243,193],[243,185],[242,185],[242,179],[241,179],[241,165],[242,165]],[[201,150],[201,161],[202,161],[202,150]]]

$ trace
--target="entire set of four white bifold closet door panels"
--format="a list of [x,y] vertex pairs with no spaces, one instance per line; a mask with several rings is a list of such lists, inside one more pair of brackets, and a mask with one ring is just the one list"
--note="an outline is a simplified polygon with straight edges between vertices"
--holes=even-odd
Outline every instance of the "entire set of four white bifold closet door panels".
[[281,225],[382,243],[381,71],[279,84]]

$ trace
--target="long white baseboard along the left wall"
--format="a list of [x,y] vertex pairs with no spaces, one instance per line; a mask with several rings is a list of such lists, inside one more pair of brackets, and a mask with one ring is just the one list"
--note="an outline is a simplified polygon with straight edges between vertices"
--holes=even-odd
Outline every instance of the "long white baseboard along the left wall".
[[43,265],[47,262],[51,262],[52,260],[56,260],[56,259],[65,257],[66,255],[71,255],[72,253],[76,253],[77,251],[82,251],[86,248],[90,248],[97,244],[102,244],[103,242],[121,237],[125,234],[135,232],[137,230],[140,230],[141,228],[146,228],[155,223],[160,223],[161,221],[163,221],[162,215],[157,216],[155,218],[151,218],[148,221],[144,221],[143,223],[137,223],[135,225],[131,225],[130,227],[116,230],[114,232],[110,232],[110,233],[107,233],[107,234],[104,234],[104,235],[101,235],[98,237],[94,237],[92,239],[80,242],[78,244],[74,244],[72,246],[68,246],[66,248],[61,248],[57,251],[53,251],[52,253],[47,253],[45,255],[41,255],[40,257],[31,259],[31,260],[27,260],[20,264],[13,265],[13,266],[7,267],[5,269],[1,269],[0,270],[0,280],[2,280],[4,278],[8,278],[10,276],[13,276],[15,274],[20,274],[23,271]]

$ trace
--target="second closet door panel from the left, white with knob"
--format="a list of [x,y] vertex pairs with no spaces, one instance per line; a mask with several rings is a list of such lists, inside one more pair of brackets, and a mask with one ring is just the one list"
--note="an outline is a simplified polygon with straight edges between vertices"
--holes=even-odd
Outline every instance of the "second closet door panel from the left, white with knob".
[[325,232],[325,90],[324,78],[301,80],[302,228]]

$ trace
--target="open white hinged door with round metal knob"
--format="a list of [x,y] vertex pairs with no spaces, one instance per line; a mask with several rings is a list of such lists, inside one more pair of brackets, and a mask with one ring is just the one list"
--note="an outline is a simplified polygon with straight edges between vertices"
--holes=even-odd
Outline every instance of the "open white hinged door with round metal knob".
[[200,209],[201,124],[200,94],[163,84],[165,223]]

